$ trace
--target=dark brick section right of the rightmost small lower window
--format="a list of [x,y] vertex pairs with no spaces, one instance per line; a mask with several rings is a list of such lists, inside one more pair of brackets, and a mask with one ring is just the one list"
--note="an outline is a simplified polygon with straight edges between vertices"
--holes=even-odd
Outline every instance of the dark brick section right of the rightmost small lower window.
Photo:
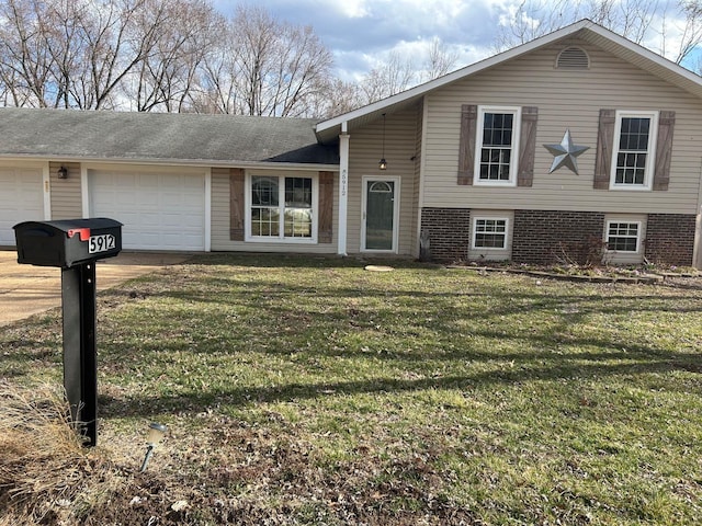
[[652,263],[691,266],[695,217],[688,214],[648,214],[646,259]]

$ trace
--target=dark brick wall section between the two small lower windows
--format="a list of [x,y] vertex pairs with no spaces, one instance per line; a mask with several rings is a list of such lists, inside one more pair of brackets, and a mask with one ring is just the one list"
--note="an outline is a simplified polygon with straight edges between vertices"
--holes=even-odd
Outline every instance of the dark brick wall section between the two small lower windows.
[[604,214],[598,211],[514,210],[512,261],[598,263],[603,230]]

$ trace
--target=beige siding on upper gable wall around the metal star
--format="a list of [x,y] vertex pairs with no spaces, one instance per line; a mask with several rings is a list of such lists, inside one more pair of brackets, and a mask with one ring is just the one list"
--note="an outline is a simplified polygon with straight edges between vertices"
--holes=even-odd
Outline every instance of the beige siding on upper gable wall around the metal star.
[[[588,70],[555,69],[557,54],[580,45]],[[423,206],[697,214],[702,104],[687,92],[603,50],[570,39],[502,64],[427,98]],[[539,107],[532,187],[476,187],[456,184],[461,105]],[[675,111],[670,186],[666,192],[593,190],[600,108]],[[567,168],[548,174],[553,156],[544,144],[561,142],[570,129],[579,175]]]

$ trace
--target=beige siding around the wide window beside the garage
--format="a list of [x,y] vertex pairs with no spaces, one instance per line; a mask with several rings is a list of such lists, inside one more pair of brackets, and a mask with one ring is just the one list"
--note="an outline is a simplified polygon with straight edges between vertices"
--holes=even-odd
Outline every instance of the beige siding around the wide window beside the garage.
[[[282,170],[280,172],[267,171],[247,171],[247,174],[313,174],[318,172],[304,171],[293,172],[291,170]],[[229,169],[213,168],[212,169],[212,250],[213,251],[240,251],[240,252],[294,252],[308,254],[336,254],[337,253],[337,232],[339,225],[339,175],[335,173],[333,183],[333,237],[331,243],[264,243],[264,242],[247,242],[231,241],[229,239]]]

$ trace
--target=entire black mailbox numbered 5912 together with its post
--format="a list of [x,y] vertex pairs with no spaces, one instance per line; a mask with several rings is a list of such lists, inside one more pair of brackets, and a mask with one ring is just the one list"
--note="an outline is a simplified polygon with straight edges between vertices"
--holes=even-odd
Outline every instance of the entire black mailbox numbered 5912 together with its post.
[[14,226],[18,262],[61,268],[64,387],[71,420],[98,444],[95,262],[122,250],[114,219],[25,221]]

